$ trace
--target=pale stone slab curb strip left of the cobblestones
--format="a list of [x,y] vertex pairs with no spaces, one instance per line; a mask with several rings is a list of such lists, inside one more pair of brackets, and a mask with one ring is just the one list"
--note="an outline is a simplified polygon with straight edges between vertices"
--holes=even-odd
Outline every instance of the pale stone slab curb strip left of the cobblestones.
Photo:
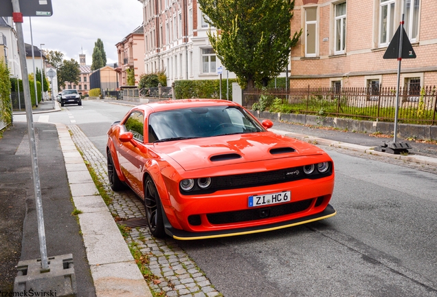
[[56,124],[96,295],[152,296],[65,124]]

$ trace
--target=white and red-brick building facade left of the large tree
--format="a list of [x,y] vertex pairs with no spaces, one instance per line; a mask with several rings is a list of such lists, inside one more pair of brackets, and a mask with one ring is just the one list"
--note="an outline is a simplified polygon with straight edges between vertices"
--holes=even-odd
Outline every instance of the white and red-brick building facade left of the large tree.
[[[222,65],[196,0],[139,1],[144,8],[145,73],[165,71],[167,85],[175,80],[219,78],[217,68]],[[235,78],[222,69],[224,77]]]

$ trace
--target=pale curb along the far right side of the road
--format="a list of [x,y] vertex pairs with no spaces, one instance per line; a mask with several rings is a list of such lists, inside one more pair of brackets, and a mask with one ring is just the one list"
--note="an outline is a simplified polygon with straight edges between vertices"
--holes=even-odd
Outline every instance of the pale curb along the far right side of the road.
[[346,142],[337,142],[334,140],[326,140],[326,139],[320,138],[320,137],[313,137],[313,136],[308,136],[308,135],[304,135],[304,134],[292,133],[292,132],[281,131],[281,130],[276,130],[276,129],[269,129],[269,131],[276,133],[276,134],[284,135],[287,137],[295,138],[298,140],[303,140],[304,142],[309,142],[311,144],[323,144],[323,145],[327,145],[327,146],[335,146],[338,148],[348,148],[348,149],[353,150],[353,151],[359,151],[359,152],[368,153],[371,155],[380,155],[383,157],[391,157],[393,159],[403,159],[405,161],[416,162],[419,164],[437,166],[437,159],[434,157],[427,157],[427,156],[423,156],[423,155],[394,155],[394,154],[390,154],[390,153],[383,153],[383,152],[379,152],[379,151],[374,151],[374,147],[372,147],[372,146],[361,146],[359,144],[348,144]]

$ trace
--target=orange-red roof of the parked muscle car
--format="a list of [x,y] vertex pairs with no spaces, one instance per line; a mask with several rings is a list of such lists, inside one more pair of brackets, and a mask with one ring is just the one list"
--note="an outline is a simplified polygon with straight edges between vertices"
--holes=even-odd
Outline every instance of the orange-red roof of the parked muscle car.
[[148,104],[138,105],[136,109],[145,110],[147,108],[153,109],[153,111],[166,111],[172,109],[183,109],[190,107],[212,107],[219,105],[227,106],[240,106],[235,102],[228,100],[214,100],[214,99],[180,99],[180,100],[166,100],[153,102]]

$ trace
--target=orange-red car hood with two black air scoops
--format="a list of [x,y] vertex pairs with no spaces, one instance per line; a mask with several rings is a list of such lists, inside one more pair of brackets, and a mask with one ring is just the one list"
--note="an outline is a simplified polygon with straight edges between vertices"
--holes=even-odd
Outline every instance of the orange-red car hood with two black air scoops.
[[157,142],[155,149],[184,170],[324,153],[317,146],[272,132]]

